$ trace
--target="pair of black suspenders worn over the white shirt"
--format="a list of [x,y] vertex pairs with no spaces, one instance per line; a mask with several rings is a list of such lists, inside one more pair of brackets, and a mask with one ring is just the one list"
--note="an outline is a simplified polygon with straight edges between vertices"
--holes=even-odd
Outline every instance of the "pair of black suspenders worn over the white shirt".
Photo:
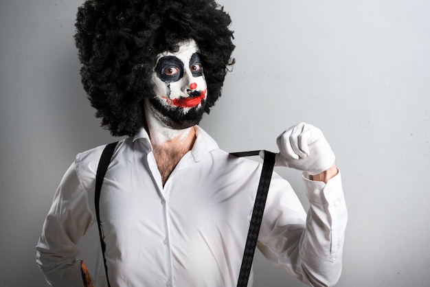
[[[104,175],[106,174],[106,170],[109,167],[109,163],[111,162],[111,158],[112,158],[113,152],[115,151],[116,146],[117,146],[117,142],[109,143],[104,148],[102,152],[102,156],[100,157],[100,161],[98,163],[97,174],[95,175],[95,198],[94,198],[95,214],[97,216],[100,244],[102,246],[104,271],[106,272],[106,280],[109,287],[111,286],[111,284],[109,283],[106,256],[104,254],[106,251],[106,244],[104,242],[102,222],[100,221],[99,202],[100,202],[100,192],[102,190]],[[238,157],[241,157],[241,156],[246,157],[249,155],[256,155],[256,152],[238,152],[238,153],[235,153],[234,155]],[[256,201],[254,203],[251,222],[249,224],[247,242],[245,244],[245,251],[243,252],[242,265],[240,266],[240,273],[239,273],[237,287],[246,287],[248,285],[249,273],[251,273],[253,256],[256,251],[258,233],[260,232],[264,206],[266,205],[267,193],[269,192],[269,185],[271,181],[271,175],[273,172],[273,165],[275,165],[275,154],[273,152],[268,152],[265,150],[260,182],[258,183]]]

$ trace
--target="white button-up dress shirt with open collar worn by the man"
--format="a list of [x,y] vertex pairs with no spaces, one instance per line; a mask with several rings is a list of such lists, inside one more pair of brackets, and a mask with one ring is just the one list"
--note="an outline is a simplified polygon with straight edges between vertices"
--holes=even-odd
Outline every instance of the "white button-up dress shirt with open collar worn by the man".
[[[83,285],[76,244],[96,223],[103,148],[78,154],[45,220],[37,263],[53,286]],[[111,286],[236,286],[261,168],[220,150],[197,126],[192,150],[163,187],[146,130],[120,141],[100,196]],[[327,184],[303,178],[307,219],[291,185],[273,173],[258,249],[302,282],[332,286],[347,220],[340,172]],[[93,279],[106,286],[101,255]]]

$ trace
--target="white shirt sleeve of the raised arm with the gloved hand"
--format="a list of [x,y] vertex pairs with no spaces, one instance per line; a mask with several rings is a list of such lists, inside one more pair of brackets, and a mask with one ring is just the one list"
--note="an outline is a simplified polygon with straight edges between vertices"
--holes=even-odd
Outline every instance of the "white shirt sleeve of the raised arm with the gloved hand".
[[341,275],[348,218],[341,174],[328,183],[304,174],[307,215],[291,186],[273,181],[258,239],[267,259],[310,286],[334,286]]

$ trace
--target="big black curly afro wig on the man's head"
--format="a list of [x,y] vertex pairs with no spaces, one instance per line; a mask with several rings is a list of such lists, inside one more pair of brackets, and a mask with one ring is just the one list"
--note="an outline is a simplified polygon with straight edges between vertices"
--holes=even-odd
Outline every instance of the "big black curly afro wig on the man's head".
[[87,0],[76,21],[80,74],[96,117],[114,136],[144,125],[144,98],[155,97],[156,57],[194,39],[207,82],[205,112],[221,94],[234,45],[229,15],[214,0]]

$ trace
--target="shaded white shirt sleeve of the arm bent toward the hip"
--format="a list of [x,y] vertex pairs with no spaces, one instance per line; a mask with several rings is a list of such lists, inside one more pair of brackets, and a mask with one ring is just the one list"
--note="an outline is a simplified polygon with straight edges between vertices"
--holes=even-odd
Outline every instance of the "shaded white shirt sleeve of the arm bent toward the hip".
[[76,244],[93,223],[73,163],[63,176],[36,246],[36,263],[52,286],[84,286]]

